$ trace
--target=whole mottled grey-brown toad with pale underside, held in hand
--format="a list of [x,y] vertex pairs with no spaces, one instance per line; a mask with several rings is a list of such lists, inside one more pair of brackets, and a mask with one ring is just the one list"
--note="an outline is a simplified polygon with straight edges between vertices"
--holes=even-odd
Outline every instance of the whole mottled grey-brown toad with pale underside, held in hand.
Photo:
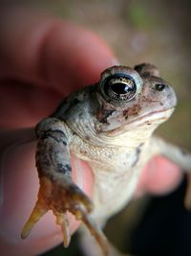
[[[107,220],[129,202],[148,160],[163,154],[183,170],[191,167],[188,152],[152,135],[176,104],[173,88],[159,78],[159,70],[151,64],[108,68],[96,84],[65,99],[51,117],[36,126],[40,188],[22,238],[48,210],[53,210],[68,246],[71,234],[67,212],[71,212],[87,225],[102,254],[111,255],[96,220]],[[94,172],[92,199],[72,180],[71,153],[86,160]]]

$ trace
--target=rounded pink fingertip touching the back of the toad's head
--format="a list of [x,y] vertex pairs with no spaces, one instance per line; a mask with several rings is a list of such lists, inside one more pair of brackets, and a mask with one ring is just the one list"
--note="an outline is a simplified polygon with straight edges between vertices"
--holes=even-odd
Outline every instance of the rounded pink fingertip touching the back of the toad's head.
[[46,37],[41,66],[46,79],[65,94],[98,81],[105,68],[117,63],[112,50],[93,32],[60,21]]

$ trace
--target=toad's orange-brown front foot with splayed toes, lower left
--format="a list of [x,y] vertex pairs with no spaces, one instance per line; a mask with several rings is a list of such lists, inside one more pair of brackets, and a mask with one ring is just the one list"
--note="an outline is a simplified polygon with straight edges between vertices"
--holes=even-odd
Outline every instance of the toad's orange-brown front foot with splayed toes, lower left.
[[38,200],[32,210],[32,215],[29,221],[26,222],[21,237],[26,238],[36,221],[48,211],[53,210],[56,216],[56,222],[61,226],[63,233],[64,246],[70,244],[71,233],[69,221],[67,218],[67,211],[74,214],[76,220],[83,221],[92,235],[100,244],[104,254],[107,255],[107,243],[102,231],[96,226],[96,223],[91,219],[89,213],[93,209],[93,204],[82,191],[75,185],[70,184],[66,187],[63,184],[53,182],[47,177],[40,178],[40,189],[38,193]]

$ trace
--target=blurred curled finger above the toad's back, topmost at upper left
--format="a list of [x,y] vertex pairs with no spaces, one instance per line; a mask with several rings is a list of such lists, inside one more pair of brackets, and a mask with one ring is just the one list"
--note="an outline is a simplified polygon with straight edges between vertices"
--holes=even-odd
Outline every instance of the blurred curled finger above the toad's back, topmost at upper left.
[[2,77],[52,83],[63,92],[66,83],[97,81],[115,62],[101,39],[74,24],[26,9],[4,11],[1,21]]

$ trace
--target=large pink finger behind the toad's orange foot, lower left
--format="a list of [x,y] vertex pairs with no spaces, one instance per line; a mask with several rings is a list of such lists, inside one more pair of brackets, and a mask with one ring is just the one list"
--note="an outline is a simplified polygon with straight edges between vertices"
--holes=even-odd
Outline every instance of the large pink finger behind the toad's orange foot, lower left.
[[[22,131],[22,134],[24,132]],[[5,134],[4,134],[5,136]],[[20,134],[19,134],[20,136]],[[11,137],[11,135],[10,135]],[[32,206],[37,197],[38,177],[34,168],[35,143],[24,143],[25,140],[14,139],[14,145],[6,148],[1,153],[1,251],[7,255],[32,255],[39,254],[53,245],[61,243],[62,235],[60,227],[55,224],[53,213],[47,213],[41,221],[36,223],[30,237],[23,241],[20,239],[22,227],[29,217]],[[25,141],[26,142],[26,141]],[[19,143],[19,144],[18,144]],[[92,194],[93,175],[88,166],[73,157],[74,181],[87,194]],[[88,182],[87,182],[88,180]],[[79,222],[69,216],[72,232]],[[15,254],[16,253],[16,254]]]

